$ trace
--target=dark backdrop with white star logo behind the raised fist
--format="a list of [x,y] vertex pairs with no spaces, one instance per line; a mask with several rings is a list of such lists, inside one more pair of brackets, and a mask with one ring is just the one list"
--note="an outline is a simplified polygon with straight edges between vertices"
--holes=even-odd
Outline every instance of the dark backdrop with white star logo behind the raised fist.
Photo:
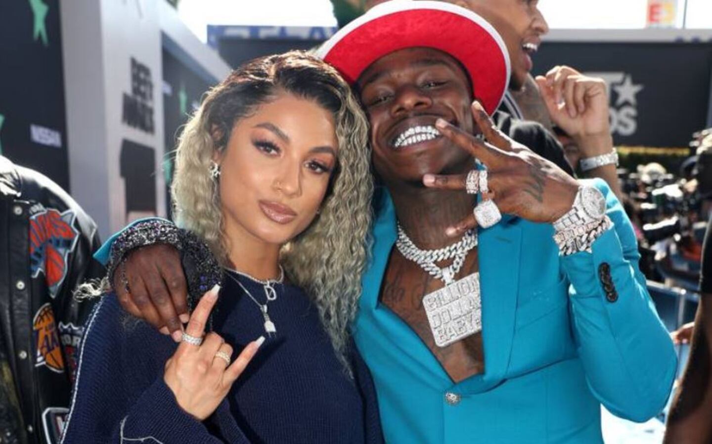
[[614,142],[687,147],[708,121],[712,43],[545,42],[536,74],[570,65],[608,84]]

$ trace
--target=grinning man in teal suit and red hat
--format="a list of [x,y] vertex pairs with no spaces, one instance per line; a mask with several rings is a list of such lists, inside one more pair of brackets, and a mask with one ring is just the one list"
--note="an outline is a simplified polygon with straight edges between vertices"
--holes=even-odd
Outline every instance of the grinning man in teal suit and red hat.
[[[360,93],[383,184],[354,335],[386,440],[602,443],[601,403],[634,421],[661,411],[676,356],[630,223],[602,181],[493,125],[510,76],[496,31],[393,1],[320,53]],[[596,86],[582,87],[585,122]]]

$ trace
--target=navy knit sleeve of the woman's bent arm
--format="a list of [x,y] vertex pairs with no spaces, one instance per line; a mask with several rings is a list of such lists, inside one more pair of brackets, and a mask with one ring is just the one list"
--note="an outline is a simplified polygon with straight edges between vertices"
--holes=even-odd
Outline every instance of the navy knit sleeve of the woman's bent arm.
[[162,362],[147,364],[152,356],[169,354],[157,340],[163,338],[150,327],[128,337],[120,310],[108,295],[90,318],[62,443],[248,444],[231,416],[217,421],[226,438],[221,440],[178,406],[163,380]]

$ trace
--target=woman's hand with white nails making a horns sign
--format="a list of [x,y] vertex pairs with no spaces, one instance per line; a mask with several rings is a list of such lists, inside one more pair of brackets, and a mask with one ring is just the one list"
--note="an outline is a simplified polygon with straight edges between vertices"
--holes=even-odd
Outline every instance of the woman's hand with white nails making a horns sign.
[[[188,322],[185,330],[187,334],[203,337],[205,324],[219,290],[219,285],[216,285],[201,297]],[[173,391],[178,405],[203,421],[219,406],[263,341],[264,338],[260,337],[247,344],[228,366],[228,359],[223,356],[232,356],[232,347],[218,334],[208,333],[201,345],[189,344],[184,340],[166,362],[163,379]]]

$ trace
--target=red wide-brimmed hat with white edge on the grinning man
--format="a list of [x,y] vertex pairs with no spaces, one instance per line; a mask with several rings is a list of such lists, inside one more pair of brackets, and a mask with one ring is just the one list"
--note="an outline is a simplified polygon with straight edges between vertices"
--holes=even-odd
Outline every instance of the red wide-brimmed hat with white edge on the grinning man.
[[405,48],[434,48],[458,60],[489,114],[509,83],[507,48],[495,28],[461,6],[391,0],[374,6],[326,41],[317,54],[351,84],[379,58]]

